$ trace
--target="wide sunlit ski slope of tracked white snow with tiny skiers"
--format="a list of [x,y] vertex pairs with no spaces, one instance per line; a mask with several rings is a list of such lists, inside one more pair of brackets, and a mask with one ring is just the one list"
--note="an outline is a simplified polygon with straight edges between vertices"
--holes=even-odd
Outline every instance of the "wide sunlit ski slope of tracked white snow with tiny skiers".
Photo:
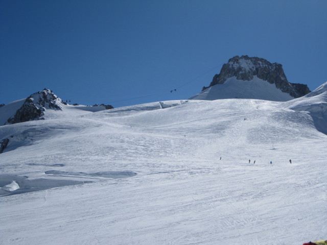
[[0,243],[326,239],[327,135],[293,106],[161,102],[2,126]]

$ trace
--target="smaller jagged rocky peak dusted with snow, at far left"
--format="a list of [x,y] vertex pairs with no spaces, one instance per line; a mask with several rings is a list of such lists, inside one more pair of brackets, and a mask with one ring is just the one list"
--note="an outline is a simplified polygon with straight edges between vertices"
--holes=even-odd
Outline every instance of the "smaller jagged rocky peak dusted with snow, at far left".
[[64,102],[57,95],[50,89],[43,89],[30,95],[7,122],[17,124],[18,122],[43,119],[42,116],[46,109],[61,110],[60,104],[64,104]]

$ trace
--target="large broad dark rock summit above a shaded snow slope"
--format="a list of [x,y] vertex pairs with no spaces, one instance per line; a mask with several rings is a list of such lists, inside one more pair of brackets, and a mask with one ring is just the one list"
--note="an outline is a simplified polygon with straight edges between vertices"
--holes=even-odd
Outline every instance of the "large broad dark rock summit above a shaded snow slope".
[[[216,74],[213,81],[208,87],[216,84],[223,84],[228,78],[236,77],[238,80],[250,81],[256,76],[270,84],[275,84],[276,88],[285,93],[289,93],[292,97],[297,98],[310,93],[305,84],[289,83],[285,76],[283,67],[278,63],[270,63],[269,61],[258,58],[245,56],[235,56],[228,60],[220,70],[220,74]],[[203,87],[202,90],[208,87]]]

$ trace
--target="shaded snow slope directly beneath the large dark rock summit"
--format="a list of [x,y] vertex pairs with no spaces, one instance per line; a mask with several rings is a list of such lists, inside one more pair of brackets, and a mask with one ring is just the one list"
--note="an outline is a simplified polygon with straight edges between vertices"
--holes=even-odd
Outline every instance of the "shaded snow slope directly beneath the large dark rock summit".
[[228,78],[223,84],[209,87],[190,100],[218,100],[218,99],[257,99],[266,101],[289,101],[294,99],[288,93],[276,88],[256,76],[250,81],[238,80],[236,77]]

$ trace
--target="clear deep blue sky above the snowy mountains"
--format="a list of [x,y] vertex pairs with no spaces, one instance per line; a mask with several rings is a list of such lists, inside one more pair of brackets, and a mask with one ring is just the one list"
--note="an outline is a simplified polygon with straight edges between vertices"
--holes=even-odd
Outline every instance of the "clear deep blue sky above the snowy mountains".
[[43,88],[83,105],[188,99],[236,55],[327,81],[325,0],[1,0],[0,32],[0,104]]

